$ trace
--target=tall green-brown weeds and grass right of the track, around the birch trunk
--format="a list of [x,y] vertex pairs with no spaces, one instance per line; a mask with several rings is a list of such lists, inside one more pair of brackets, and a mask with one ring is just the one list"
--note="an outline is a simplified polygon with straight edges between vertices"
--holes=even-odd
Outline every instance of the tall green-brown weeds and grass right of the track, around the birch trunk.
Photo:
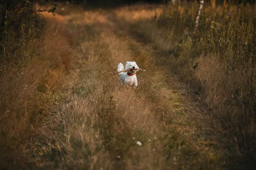
[[134,32],[160,49],[173,71],[194,89],[214,118],[212,133],[230,147],[233,163],[252,168],[256,158],[255,4],[208,2],[198,31],[192,34],[197,8],[196,2],[186,1],[164,5],[157,18],[135,23]]

